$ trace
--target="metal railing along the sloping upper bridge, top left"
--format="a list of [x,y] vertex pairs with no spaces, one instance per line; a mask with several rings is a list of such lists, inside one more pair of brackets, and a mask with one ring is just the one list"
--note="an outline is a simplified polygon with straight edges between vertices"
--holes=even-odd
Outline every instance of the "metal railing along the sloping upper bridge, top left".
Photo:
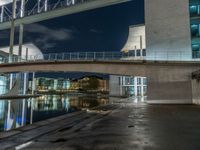
[[[27,10],[27,11],[24,12],[24,17],[37,15],[37,14],[41,14],[41,13],[46,13],[48,11],[53,11],[53,10],[56,10],[56,9],[72,7],[72,6],[80,5],[82,3],[86,3],[86,2],[89,2],[89,1],[94,1],[94,0],[75,0],[74,4],[70,3],[69,0],[60,0],[57,3],[49,4],[46,9],[45,9],[44,6],[42,6],[40,10],[38,10],[38,7],[33,7],[31,10]],[[20,13],[17,13],[15,19],[19,19],[19,18],[21,18]],[[12,19],[11,16],[3,17],[2,22],[0,22],[0,24],[3,23],[3,22],[11,21],[11,19]]]

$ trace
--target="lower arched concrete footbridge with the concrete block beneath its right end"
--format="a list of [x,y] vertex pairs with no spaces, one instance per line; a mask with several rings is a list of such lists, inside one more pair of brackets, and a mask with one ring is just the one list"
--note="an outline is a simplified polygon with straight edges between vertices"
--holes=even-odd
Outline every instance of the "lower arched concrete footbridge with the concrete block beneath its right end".
[[[192,72],[199,63],[155,63],[126,61],[57,61],[0,65],[0,73],[11,72],[93,72],[113,75],[145,76],[148,103],[192,104]],[[195,85],[199,86],[199,84]],[[196,88],[196,87],[195,87]]]

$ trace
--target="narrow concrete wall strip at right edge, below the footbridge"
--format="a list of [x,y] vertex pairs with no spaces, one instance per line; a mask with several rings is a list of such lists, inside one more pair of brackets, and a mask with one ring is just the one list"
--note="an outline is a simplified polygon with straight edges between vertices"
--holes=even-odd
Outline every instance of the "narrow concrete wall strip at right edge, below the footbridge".
[[192,99],[194,104],[200,104],[200,81],[192,80]]

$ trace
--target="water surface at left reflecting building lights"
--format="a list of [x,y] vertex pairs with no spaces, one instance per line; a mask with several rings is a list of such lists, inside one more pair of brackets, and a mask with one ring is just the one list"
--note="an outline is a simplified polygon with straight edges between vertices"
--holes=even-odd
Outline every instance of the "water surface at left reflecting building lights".
[[88,95],[44,95],[31,99],[0,101],[0,132],[108,102],[108,98]]

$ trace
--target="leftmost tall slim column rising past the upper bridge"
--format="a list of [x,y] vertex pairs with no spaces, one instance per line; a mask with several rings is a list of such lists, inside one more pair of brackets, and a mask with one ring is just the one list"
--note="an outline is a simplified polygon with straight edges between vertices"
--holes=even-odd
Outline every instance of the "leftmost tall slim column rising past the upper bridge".
[[13,59],[13,47],[15,38],[15,18],[16,18],[16,0],[12,3],[12,20],[11,20],[11,31],[10,31],[10,50],[9,50],[9,62]]

